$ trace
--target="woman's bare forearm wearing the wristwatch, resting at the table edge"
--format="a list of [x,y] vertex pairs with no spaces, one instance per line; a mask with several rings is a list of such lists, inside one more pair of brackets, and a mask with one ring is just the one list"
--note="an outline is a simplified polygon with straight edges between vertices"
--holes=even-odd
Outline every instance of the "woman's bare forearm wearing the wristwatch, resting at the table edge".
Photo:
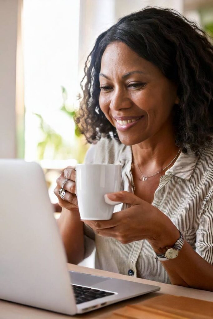
[[[162,216],[163,225],[158,226],[160,232],[155,240],[148,240],[156,254],[162,254],[165,247],[173,247],[180,237],[178,228],[168,217]],[[157,262],[163,265],[173,285],[213,291],[213,265],[197,254],[187,241],[176,258]]]

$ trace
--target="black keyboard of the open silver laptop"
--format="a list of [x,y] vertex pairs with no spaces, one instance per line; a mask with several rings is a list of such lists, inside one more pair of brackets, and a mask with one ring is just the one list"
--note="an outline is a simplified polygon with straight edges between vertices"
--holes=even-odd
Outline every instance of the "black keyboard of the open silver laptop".
[[77,304],[115,294],[115,293],[109,293],[104,290],[92,289],[92,288],[88,288],[84,286],[72,285],[72,288],[73,288],[73,292],[74,292],[75,300]]

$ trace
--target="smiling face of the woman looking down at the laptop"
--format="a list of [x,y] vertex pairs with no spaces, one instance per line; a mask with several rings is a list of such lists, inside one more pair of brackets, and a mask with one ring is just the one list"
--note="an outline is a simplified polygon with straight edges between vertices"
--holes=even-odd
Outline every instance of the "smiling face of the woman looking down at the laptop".
[[177,86],[153,63],[123,42],[112,42],[103,53],[99,78],[100,108],[121,143],[135,145],[172,130]]

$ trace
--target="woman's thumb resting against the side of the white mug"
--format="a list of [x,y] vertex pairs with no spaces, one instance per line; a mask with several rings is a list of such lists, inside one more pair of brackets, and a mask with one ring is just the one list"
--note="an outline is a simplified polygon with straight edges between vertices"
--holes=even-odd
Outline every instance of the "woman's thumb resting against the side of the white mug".
[[126,190],[114,193],[107,193],[104,195],[104,198],[108,197],[110,201],[121,203],[126,203],[130,205],[140,205],[143,200],[138,196],[134,195],[133,193],[127,192]]

